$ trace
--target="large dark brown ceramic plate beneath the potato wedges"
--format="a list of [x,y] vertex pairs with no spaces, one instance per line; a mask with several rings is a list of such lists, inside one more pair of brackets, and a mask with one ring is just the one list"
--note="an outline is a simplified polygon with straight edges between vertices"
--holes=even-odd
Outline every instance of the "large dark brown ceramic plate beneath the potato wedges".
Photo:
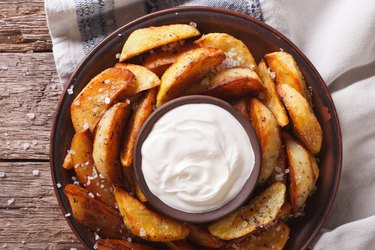
[[[66,184],[72,183],[72,172],[65,171],[61,166],[73,137],[69,107],[74,97],[91,78],[117,62],[116,54],[120,53],[125,39],[132,31],[152,25],[190,22],[197,23],[198,29],[203,34],[225,32],[242,40],[250,48],[257,62],[264,54],[282,48],[294,56],[306,82],[312,87],[314,111],[324,133],[323,147],[319,154],[320,176],[316,184],[316,193],[307,201],[305,215],[289,223],[291,235],[286,245],[287,249],[309,247],[329,213],[340,179],[342,142],[339,120],[332,98],[311,62],[286,37],[261,21],[236,12],[211,7],[174,8],[137,19],[105,38],[77,67],[60,98],[51,135],[52,180],[63,213],[70,211],[63,189]],[[71,85],[74,85],[74,94],[68,95],[67,88]],[[62,187],[58,189],[56,183],[60,183]],[[95,244],[93,233],[76,223],[72,217],[68,217],[67,221],[82,244],[92,249]]]

